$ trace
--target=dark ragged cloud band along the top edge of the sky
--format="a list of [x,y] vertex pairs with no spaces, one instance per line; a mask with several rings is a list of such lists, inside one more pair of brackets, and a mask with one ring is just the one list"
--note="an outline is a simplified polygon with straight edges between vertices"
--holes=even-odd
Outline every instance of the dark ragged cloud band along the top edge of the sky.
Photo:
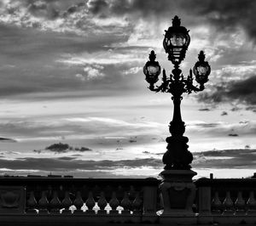
[[[89,0],[85,4],[82,0],[77,1],[20,1],[15,0],[15,7],[6,7],[9,14],[17,14],[20,8],[28,10],[32,16],[55,20],[60,17],[67,18],[79,10],[87,10],[90,14],[99,17],[113,15],[130,15],[135,23],[141,17],[154,20],[180,15],[188,25],[198,25],[198,22],[207,23],[216,27],[216,31],[230,31],[242,27],[249,37],[255,39],[256,3],[252,0]],[[241,16],[244,15],[244,16]],[[35,25],[37,25],[35,23]]]

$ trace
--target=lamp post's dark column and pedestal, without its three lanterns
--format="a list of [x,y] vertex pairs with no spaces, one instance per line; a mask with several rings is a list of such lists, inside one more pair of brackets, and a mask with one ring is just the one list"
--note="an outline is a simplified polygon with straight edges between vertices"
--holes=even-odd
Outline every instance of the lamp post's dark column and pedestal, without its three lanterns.
[[195,184],[192,178],[196,172],[190,168],[193,155],[189,152],[187,144],[189,138],[184,137],[185,123],[181,116],[182,94],[186,92],[186,83],[183,81],[182,71],[175,65],[172,70],[173,80],[169,84],[169,92],[172,93],[173,117],[169,131],[172,136],[166,138],[166,153],[163,155],[164,171],[160,172],[162,182],[160,184],[160,198],[163,203],[161,221],[168,221],[168,217],[189,216],[195,214],[192,211],[195,199]]

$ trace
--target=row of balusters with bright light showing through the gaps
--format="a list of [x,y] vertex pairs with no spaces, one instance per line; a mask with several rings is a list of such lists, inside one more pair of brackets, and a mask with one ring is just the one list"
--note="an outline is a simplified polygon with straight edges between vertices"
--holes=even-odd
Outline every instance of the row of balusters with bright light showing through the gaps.
[[[27,213],[61,214],[141,214],[143,212],[143,190],[134,186],[116,188],[108,185],[81,188],[39,187],[27,188]],[[108,206],[106,208],[106,206]],[[119,208],[118,208],[119,207]],[[119,210],[119,211],[118,211]]]

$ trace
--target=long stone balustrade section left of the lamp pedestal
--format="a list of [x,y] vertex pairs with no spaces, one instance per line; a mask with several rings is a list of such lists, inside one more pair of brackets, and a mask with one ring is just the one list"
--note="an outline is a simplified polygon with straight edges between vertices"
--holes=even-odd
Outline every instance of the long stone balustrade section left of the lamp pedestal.
[[1,216],[12,214],[154,223],[159,184],[155,178],[0,178],[0,222]]

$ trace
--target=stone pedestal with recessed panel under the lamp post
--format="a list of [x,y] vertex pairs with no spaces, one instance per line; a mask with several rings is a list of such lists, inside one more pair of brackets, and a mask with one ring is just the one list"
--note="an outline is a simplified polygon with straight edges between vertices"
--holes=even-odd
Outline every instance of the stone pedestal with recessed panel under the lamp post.
[[160,200],[163,206],[161,217],[194,217],[195,184],[192,170],[164,170],[160,184]]

